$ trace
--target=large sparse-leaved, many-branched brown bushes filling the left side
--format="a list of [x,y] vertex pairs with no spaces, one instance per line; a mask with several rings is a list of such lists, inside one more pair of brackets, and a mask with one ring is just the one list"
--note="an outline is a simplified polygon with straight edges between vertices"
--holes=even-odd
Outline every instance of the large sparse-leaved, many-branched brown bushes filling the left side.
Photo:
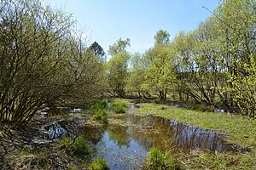
[[24,125],[42,106],[102,93],[104,52],[86,47],[71,15],[37,0],[1,0],[0,14],[0,122]]

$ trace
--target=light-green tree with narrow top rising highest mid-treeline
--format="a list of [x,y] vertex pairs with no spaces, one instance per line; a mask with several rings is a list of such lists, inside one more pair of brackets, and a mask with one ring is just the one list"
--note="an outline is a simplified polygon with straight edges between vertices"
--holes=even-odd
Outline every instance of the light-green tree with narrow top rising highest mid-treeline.
[[146,84],[157,91],[160,100],[166,100],[167,92],[175,82],[173,53],[170,48],[169,33],[160,30],[154,36],[154,47],[145,54],[148,60],[148,70],[145,75]]

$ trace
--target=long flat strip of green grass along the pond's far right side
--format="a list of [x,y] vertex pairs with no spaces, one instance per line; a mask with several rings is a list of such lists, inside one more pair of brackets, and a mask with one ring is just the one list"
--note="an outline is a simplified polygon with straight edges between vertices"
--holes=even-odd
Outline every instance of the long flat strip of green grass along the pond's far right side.
[[[227,116],[220,113],[192,111],[174,108],[168,105],[142,103],[143,108],[134,111],[139,115],[152,114],[163,116],[178,122],[197,127],[218,129],[220,133],[228,133],[231,143],[254,146],[256,141],[256,121],[245,116]],[[162,108],[165,108],[164,110]]]

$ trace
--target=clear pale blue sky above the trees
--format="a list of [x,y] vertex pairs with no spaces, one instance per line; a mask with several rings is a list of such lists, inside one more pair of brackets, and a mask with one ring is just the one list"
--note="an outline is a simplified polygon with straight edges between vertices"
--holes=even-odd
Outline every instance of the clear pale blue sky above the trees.
[[131,39],[131,52],[143,53],[154,45],[160,29],[175,37],[179,31],[194,30],[207,20],[218,0],[45,0],[54,8],[72,13],[85,28],[90,43],[104,51],[119,37]]

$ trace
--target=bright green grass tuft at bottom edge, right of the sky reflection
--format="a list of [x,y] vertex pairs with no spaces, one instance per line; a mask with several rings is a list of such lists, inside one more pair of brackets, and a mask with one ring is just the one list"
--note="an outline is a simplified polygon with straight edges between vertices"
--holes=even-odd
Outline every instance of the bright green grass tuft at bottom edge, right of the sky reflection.
[[182,169],[180,163],[176,158],[166,152],[165,154],[161,153],[157,148],[151,148],[149,150],[147,161],[143,167],[147,170],[174,170]]

